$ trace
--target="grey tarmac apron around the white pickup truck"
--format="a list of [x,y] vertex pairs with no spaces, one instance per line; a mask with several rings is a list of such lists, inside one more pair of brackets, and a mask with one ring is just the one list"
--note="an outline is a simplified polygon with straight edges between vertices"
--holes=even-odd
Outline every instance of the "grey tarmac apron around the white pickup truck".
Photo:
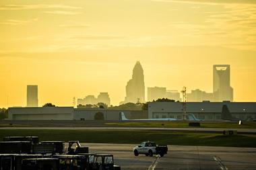
[[133,155],[133,144],[83,144],[90,153],[112,153],[115,164],[128,169],[256,169],[256,148],[169,145],[164,157]]

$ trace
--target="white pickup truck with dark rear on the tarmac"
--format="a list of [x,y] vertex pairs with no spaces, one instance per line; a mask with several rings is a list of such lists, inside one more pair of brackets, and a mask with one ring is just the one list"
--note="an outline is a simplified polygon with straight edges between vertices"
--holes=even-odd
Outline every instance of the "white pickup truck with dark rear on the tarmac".
[[133,153],[135,156],[138,156],[139,154],[145,154],[146,156],[152,157],[155,155],[160,155],[161,157],[164,156],[164,154],[167,154],[168,147],[167,145],[158,145],[156,146],[155,142],[141,142],[139,146],[135,146],[133,148]]

